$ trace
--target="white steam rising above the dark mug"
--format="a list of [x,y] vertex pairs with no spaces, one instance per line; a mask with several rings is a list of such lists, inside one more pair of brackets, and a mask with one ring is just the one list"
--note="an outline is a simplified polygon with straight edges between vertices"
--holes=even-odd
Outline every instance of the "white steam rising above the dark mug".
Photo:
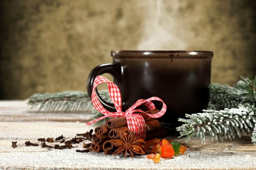
[[[188,45],[180,37],[184,34],[179,28],[175,16],[171,17],[166,6],[178,13],[180,2],[171,0],[170,3],[162,0],[147,1],[148,9],[144,15],[144,30],[138,44],[138,50],[185,50]],[[168,3],[168,4],[166,4]],[[168,9],[169,10],[169,9]]]

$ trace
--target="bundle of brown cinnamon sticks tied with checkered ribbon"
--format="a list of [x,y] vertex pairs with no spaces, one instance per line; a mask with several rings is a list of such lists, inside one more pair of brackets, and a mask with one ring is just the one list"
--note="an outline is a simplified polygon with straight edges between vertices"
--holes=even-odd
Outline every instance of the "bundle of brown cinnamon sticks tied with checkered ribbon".
[[[146,111],[147,114],[158,113],[158,109]],[[147,127],[146,139],[163,138],[166,136],[166,130],[161,127],[161,123],[157,120],[159,118],[153,118],[145,113],[140,114]],[[91,143],[91,149],[98,153],[104,152],[105,154],[112,154],[115,151],[115,146],[112,142],[113,139],[119,139],[120,131],[128,131],[127,119],[124,117],[109,119],[106,125],[96,127],[94,129],[95,134],[92,135],[93,142]]]

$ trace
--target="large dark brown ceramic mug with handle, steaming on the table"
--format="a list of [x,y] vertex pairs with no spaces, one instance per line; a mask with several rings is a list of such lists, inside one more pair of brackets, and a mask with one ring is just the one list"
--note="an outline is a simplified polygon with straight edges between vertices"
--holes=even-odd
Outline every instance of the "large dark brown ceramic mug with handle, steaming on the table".
[[[122,96],[123,111],[138,99],[152,96],[167,105],[164,122],[176,122],[185,113],[198,113],[209,102],[212,51],[111,51],[112,64],[95,67],[89,74],[87,92],[91,96],[94,79],[109,73],[114,77]],[[102,105],[115,111],[112,103]],[[161,109],[161,102],[154,102]]]

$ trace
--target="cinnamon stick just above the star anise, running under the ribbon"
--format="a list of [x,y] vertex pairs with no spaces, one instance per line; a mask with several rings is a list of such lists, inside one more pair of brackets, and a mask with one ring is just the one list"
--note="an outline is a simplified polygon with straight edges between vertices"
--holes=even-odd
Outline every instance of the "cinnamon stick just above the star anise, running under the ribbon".
[[[145,123],[146,123],[147,131],[152,131],[152,130],[161,128],[161,123],[158,120],[150,120]],[[127,130],[129,130],[127,126],[111,129],[109,130],[109,138],[117,139],[120,131],[125,132]]]

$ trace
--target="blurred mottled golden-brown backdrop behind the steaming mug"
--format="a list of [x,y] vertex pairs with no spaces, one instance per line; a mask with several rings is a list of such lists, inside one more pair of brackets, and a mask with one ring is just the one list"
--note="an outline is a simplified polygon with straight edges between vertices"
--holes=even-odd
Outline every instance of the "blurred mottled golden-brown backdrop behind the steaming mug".
[[0,99],[86,91],[111,50],[214,51],[212,82],[256,74],[255,0],[2,0]]

